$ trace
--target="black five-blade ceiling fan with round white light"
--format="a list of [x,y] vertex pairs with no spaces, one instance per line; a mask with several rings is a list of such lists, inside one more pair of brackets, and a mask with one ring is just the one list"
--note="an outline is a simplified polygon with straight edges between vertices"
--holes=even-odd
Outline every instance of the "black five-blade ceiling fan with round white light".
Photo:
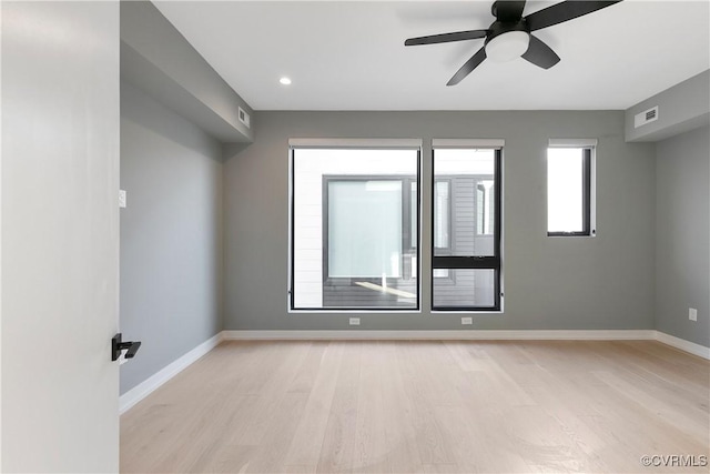
[[485,38],[486,41],[462,68],[454,74],[446,85],[456,85],[466,75],[480,65],[486,58],[494,61],[508,61],[518,57],[549,69],[559,62],[559,57],[542,41],[530,34],[531,31],[562,23],[602,8],[618,3],[616,1],[564,1],[542,10],[523,17],[525,1],[498,0],[490,7],[490,13],[496,17],[487,30],[468,30],[453,33],[432,34],[428,37],[409,38],[404,46],[447,43]]

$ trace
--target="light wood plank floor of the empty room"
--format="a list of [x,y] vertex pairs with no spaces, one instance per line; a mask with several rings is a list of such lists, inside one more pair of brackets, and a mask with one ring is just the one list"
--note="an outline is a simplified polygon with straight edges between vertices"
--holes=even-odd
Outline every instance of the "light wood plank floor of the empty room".
[[121,471],[707,473],[640,460],[708,460],[709,387],[650,341],[229,342],[121,417]]

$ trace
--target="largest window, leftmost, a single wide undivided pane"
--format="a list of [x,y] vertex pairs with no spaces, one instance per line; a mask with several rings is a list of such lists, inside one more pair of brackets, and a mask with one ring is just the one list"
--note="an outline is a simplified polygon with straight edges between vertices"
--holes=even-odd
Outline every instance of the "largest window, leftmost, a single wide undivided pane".
[[419,307],[419,147],[292,147],[292,310]]

